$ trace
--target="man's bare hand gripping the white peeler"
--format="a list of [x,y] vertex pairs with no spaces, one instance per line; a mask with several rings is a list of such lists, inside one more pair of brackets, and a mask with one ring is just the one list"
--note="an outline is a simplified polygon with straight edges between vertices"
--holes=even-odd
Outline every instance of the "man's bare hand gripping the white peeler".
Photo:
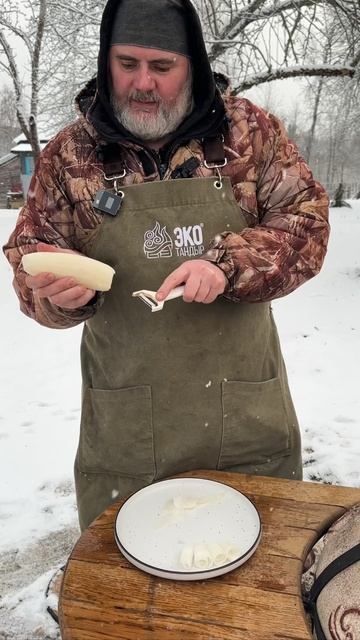
[[175,287],[185,285],[184,302],[210,304],[224,293],[226,282],[223,271],[212,262],[187,260],[165,278],[156,293],[156,298],[159,302],[165,300]]

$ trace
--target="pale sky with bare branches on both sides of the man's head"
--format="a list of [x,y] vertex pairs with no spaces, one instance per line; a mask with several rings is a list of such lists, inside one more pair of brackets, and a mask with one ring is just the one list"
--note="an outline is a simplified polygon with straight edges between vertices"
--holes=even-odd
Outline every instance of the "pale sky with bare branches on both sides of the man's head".
[[[105,0],[6,0],[0,9],[0,65],[12,78],[22,131],[35,155],[39,103],[57,126],[73,117],[77,89],[96,73]],[[194,0],[210,61],[230,75],[234,93],[290,77],[345,77],[360,67],[359,0]],[[334,20],[339,38],[331,40]],[[28,105],[19,72],[20,39],[31,71]],[[319,58],[321,62],[319,63]],[[325,80],[324,84],[325,86]],[[321,104],[320,90],[318,107]],[[28,116],[25,114],[28,112]],[[314,111],[314,132],[317,113]]]

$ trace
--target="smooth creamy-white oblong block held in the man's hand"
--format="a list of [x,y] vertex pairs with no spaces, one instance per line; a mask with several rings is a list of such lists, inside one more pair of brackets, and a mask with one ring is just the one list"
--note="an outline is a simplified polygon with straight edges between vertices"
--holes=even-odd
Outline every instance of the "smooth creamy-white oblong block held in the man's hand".
[[31,276],[53,273],[58,278],[73,277],[79,284],[95,291],[109,291],[114,269],[104,262],[76,253],[37,251],[22,257],[24,271]]

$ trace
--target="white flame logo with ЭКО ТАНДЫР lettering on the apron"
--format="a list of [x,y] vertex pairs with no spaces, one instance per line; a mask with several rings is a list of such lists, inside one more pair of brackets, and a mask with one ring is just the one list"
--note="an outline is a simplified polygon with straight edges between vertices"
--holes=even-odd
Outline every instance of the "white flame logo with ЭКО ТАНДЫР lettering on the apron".
[[144,234],[144,253],[147,258],[171,258],[200,256],[204,253],[203,224],[175,227],[174,240],[159,222]]

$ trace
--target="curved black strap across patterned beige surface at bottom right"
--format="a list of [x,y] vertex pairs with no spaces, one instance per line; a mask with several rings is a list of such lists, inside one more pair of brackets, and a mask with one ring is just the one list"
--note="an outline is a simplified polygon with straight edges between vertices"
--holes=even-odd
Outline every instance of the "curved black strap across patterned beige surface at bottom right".
[[360,544],[342,553],[335,558],[316,578],[307,597],[304,598],[305,610],[310,614],[316,633],[317,640],[326,640],[326,636],[321,626],[319,614],[317,612],[317,599],[326,585],[335,578],[341,571],[347,569],[360,560]]

